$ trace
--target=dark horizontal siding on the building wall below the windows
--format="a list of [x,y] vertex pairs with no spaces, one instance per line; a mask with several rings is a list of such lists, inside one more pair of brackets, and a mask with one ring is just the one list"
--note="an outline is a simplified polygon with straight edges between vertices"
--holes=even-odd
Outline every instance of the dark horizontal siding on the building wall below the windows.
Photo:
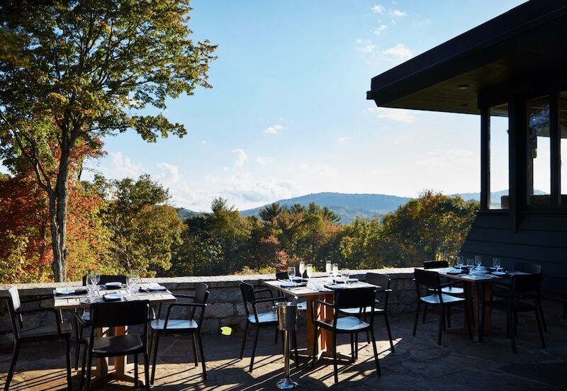
[[481,254],[485,265],[498,256],[505,268],[516,261],[539,263],[544,290],[567,294],[567,214],[522,213],[515,234],[509,224],[506,212],[478,212],[461,252]]

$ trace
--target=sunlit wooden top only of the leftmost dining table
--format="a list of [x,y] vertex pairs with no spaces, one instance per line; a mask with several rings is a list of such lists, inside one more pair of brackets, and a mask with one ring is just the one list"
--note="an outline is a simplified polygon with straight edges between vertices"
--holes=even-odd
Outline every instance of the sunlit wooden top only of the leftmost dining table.
[[[150,288],[155,287],[156,284],[150,283],[142,283],[137,285],[140,288]],[[79,287],[77,287],[79,288]],[[133,300],[150,300],[150,302],[174,302],[175,296],[169,292],[169,290],[165,290],[164,292],[140,292],[136,293],[135,295],[131,295],[130,291],[126,288],[122,289],[99,289],[95,290],[94,294],[96,296],[97,302],[103,302],[103,295],[107,293],[120,293],[124,295],[125,301],[133,301]],[[55,290],[53,290],[53,298],[55,300],[54,307],[57,310],[74,310],[76,308],[86,308],[89,307],[92,303],[86,302],[87,295],[55,295]]]

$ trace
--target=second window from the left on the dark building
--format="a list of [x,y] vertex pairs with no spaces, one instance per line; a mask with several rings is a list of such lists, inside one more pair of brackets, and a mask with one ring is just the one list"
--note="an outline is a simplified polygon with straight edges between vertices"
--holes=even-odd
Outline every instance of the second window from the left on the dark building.
[[551,138],[549,96],[527,101],[527,203],[551,203]]

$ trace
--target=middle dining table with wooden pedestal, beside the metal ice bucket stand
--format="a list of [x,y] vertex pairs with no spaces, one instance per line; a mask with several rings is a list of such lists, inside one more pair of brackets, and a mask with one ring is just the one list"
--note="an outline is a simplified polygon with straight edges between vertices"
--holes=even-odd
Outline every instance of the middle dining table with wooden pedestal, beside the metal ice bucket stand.
[[[317,276],[309,280],[267,280],[264,285],[277,290],[287,297],[305,298],[307,303],[306,329],[307,329],[307,348],[308,353],[313,350],[313,344],[318,344],[318,358],[332,357],[332,333],[325,329],[320,329],[318,339],[314,339],[315,324],[313,324],[313,314],[317,319],[330,321],[333,317],[333,310],[326,305],[317,305],[313,303],[314,299],[323,300],[332,303],[335,299],[335,290],[337,289],[354,289],[354,288],[381,288],[357,278],[349,278],[347,283],[341,278],[333,278],[332,276]],[[315,306],[315,307],[314,307]]]

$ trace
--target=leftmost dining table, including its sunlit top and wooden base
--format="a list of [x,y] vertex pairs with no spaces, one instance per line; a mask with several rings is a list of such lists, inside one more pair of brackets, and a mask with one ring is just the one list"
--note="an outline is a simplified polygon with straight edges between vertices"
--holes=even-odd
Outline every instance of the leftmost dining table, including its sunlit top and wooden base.
[[[53,290],[53,299],[55,301],[55,310],[89,310],[94,302],[106,302],[104,296],[109,293],[115,293],[121,296],[120,301],[129,302],[133,300],[149,300],[150,305],[159,305],[167,302],[176,301],[175,296],[156,283],[140,283],[133,289],[126,288],[125,285],[120,287],[105,288],[105,285],[96,286],[93,295],[86,293],[85,287],[57,288]],[[114,328],[115,336],[126,334],[127,326],[119,326]],[[107,329],[95,330],[96,336],[103,336]],[[133,363],[128,363],[128,358],[118,356],[113,358],[113,370],[108,369],[108,358],[97,358],[95,360],[95,376],[92,384],[104,384],[111,380],[120,380],[124,382],[135,382],[134,377],[129,375],[133,370]],[[138,379],[138,386],[144,385],[143,380]]]

